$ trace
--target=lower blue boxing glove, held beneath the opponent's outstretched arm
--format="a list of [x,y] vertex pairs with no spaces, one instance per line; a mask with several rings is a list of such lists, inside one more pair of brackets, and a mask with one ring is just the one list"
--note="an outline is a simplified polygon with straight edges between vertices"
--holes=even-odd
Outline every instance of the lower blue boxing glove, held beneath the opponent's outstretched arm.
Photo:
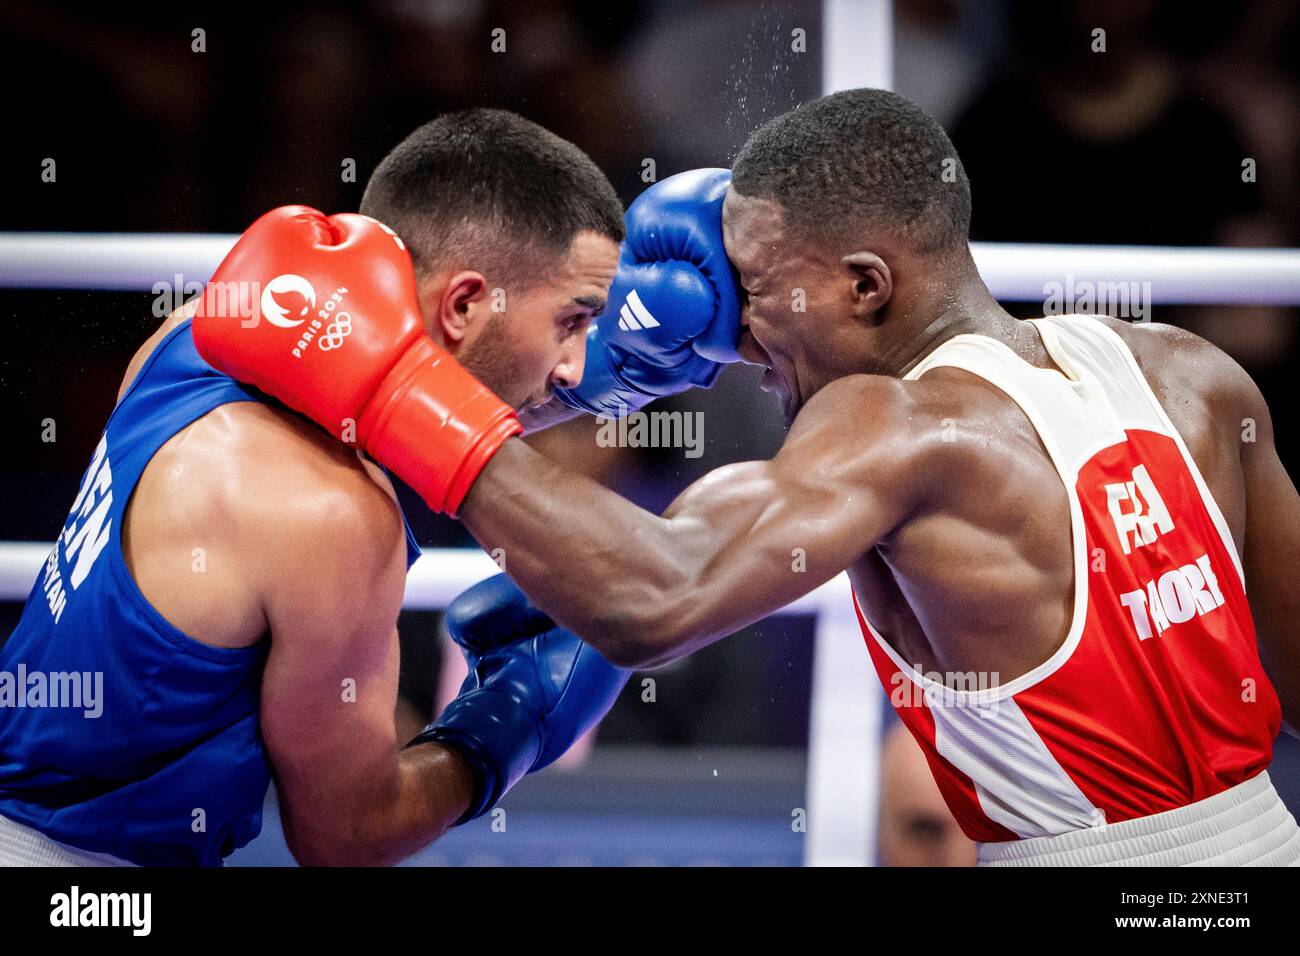
[[556,626],[503,574],[452,601],[446,622],[469,675],[411,745],[446,744],[473,767],[474,795],[456,821],[464,823],[559,760],[608,713],[632,671]]

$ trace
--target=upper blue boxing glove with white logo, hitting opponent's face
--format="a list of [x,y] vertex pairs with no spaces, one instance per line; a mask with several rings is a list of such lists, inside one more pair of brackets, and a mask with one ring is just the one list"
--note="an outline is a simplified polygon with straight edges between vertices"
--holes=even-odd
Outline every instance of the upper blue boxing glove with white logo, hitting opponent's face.
[[586,367],[564,405],[619,418],[663,395],[708,388],[738,362],[740,294],[723,247],[731,170],[693,169],[628,207],[610,304],[586,337]]

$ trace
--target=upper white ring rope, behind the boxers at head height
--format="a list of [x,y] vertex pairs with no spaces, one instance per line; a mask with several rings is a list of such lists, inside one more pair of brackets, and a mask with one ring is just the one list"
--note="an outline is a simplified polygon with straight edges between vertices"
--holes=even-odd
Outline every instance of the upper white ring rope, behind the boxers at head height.
[[[0,233],[0,287],[157,291],[202,284],[237,237],[194,233]],[[1300,250],[971,243],[1000,299],[1123,284],[1148,304],[1300,304]],[[1149,285],[1148,285],[1149,284]],[[1074,297],[1069,297],[1074,298]]]

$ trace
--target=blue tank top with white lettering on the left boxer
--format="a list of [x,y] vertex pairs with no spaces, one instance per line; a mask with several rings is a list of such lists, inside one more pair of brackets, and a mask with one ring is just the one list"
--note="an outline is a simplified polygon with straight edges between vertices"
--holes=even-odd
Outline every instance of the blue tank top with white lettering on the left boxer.
[[[257,401],[199,358],[186,321],[113,410],[0,649],[8,672],[103,675],[103,700],[5,713],[0,814],[139,864],[216,864],[257,835],[270,782],[257,732],[269,641],[190,637],[140,593],[122,554],[127,502],[159,447],[220,406]],[[406,540],[410,566],[420,555],[410,527]]]

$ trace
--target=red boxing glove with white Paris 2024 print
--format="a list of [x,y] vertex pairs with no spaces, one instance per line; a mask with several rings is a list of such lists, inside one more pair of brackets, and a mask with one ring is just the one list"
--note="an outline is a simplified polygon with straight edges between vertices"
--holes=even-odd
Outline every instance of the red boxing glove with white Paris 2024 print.
[[213,368],[356,441],[436,511],[454,515],[521,431],[425,334],[411,256],[367,216],[272,209],[217,267],[192,329]]

